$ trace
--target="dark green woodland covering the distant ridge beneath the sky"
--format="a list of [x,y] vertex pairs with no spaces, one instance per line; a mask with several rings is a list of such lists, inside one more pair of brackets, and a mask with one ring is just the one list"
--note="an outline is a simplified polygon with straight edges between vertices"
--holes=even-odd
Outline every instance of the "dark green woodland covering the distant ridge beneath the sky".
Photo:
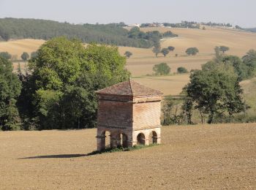
[[52,20],[1,18],[0,40],[9,39],[51,39],[65,36],[68,39],[80,39],[82,42],[97,42],[99,44],[129,46],[129,47],[152,47],[162,37],[176,37],[170,31],[159,34],[158,31],[142,32],[135,34],[123,28],[124,23],[110,24],[70,24],[59,23]]

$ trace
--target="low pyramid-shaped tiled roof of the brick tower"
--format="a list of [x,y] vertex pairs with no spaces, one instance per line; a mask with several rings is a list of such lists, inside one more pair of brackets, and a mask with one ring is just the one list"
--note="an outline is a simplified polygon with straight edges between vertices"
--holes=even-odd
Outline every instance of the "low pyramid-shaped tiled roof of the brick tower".
[[96,91],[97,94],[113,94],[127,96],[162,95],[162,92],[143,86],[134,80],[128,80]]

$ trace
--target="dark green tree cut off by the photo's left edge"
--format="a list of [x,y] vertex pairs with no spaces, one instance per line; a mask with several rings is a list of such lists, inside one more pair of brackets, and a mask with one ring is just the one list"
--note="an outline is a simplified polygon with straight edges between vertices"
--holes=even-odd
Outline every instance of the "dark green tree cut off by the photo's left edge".
[[0,129],[20,129],[20,117],[16,101],[20,95],[21,84],[12,72],[12,63],[0,57]]

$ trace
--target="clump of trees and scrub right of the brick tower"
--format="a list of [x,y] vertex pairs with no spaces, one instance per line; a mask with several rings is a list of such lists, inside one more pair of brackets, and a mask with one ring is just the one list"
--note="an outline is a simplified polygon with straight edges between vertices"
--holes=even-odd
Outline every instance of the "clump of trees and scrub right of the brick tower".
[[249,50],[243,58],[225,56],[219,47],[215,51],[212,61],[192,72],[180,97],[165,99],[164,124],[197,123],[197,118],[201,123],[233,122],[234,115],[245,115],[249,106],[239,83],[256,76],[256,51]]

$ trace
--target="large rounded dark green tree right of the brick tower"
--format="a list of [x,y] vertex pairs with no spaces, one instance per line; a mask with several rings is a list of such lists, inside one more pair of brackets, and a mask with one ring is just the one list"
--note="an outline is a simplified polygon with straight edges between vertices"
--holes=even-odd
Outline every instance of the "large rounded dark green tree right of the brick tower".
[[208,114],[208,123],[225,112],[233,115],[244,110],[242,92],[233,67],[227,64],[193,72],[187,86],[187,97],[196,109]]

